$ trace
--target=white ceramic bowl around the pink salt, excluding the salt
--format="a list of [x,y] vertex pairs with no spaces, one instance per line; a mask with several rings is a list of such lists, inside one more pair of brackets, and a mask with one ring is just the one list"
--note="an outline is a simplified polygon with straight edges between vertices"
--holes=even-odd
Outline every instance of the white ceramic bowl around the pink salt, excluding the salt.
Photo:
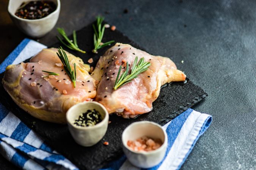
[[[163,144],[153,151],[134,151],[127,145],[128,140],[148,136],[153,139],[160,139]],[[131,164],[140,168],[151,168],[159,164],[165,156],[168,137],[163,128],[154,122],[141,121],[130,124],[122,134],[123,150]]]

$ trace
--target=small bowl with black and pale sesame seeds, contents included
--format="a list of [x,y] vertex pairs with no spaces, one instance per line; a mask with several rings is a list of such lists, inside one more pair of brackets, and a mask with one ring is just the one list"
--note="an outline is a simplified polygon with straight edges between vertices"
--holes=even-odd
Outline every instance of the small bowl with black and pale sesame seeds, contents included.
[[83,102],[66,113],[69,131],[78,144],[89,147],[99,142],[108,127],[108,112],[98,102]]

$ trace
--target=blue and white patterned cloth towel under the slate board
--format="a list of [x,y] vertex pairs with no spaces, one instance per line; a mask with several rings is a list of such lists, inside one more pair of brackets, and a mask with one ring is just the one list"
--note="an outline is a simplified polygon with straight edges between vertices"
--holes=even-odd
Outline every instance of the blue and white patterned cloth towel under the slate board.
[[[46,46],[24,39],[0,65],[0,73],[9,64],[20,63]],[[163,128],[168,134],[168,147],[163,161],[152,170],[179,169],[192,151],[198,138],[206,131],[212,116],[188,109]],[[64,156],[45,144],[44,140],[28,128],[0,103],[0,153],[17,167],[37,169],[78,169]],[[123,156],[104,170],[138,170]],[[102,169],[102,170],[103,170]]]

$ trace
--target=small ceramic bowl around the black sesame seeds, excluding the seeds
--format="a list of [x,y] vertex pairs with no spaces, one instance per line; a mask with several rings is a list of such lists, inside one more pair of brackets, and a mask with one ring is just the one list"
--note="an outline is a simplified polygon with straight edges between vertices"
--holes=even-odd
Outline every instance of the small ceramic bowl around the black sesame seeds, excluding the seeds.
[[[74,125],[75,119],[87,110],[95,109],[103,120],[91,127],[80,127]],[[99,142],[105,135],[108,128],[108,112],[106,108],[98,102],[82,102],[69,108],[66,114],[69,131],[78,144],[89,147]]]

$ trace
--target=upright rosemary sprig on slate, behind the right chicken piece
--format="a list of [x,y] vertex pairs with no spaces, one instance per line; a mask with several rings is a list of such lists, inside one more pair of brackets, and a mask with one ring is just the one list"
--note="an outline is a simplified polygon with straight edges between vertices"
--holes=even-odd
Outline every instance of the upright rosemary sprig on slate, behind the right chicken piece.
[[[93,49],[93,53],[98,53],[97,50],[107,46],[113,42],[115,42],[114,40],[102,43],[102,38],[104,35],[104,31],[105,31],[105,24],[102,26],[102,22],[104,20],[104,17],[101,16],[97,16],[97,25],[95,26],[93,24],[93,30],[94,30],[94,35],[93,35],[93,42],[94,42],[94,49]],[[96,29],[97,27],[97,29]]]

